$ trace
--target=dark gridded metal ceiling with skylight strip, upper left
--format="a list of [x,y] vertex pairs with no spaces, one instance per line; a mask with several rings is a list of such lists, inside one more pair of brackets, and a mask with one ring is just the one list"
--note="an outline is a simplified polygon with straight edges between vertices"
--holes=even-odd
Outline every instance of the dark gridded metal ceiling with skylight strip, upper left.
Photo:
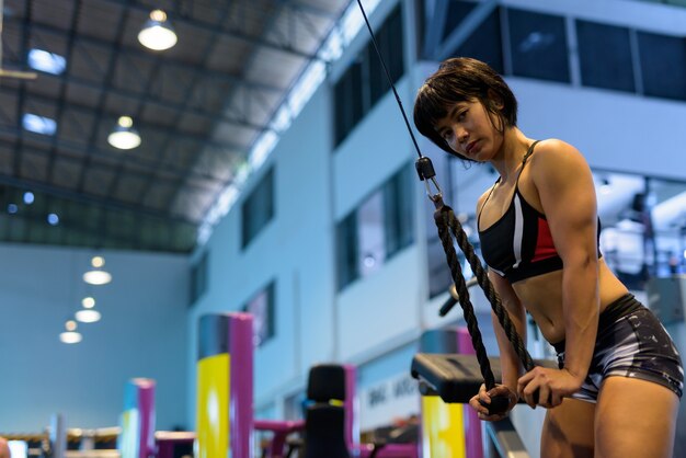
[[[348,2],[4,0],[2,68],[35,71],[31,49],[66,68],[0,78],[0,241],[190,252]],[[137,39],[158,8],[179,36],[164,51]],[[55,133],[27,130],[25,114]],[[107,144],[122,115],[138,148]]]

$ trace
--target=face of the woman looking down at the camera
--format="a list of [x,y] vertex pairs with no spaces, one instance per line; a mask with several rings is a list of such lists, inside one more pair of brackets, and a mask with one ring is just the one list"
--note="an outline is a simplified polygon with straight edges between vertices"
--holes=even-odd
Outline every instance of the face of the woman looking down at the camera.
[[448,107],[448,114],[435,128],[453,151],[469,160],[485,162],[502,144],[502,133],[495,128],[499,121],[476,100]]

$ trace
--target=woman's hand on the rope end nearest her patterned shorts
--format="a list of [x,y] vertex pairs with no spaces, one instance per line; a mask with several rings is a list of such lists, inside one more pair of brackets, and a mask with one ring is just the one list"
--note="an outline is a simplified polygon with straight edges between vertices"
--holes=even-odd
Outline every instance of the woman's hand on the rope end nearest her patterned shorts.
[[517,392],[531,408],[552,409],[562,403],[562,398],[572,396],[581,388],[583,379],[567,369],[535,367],[517,380]]

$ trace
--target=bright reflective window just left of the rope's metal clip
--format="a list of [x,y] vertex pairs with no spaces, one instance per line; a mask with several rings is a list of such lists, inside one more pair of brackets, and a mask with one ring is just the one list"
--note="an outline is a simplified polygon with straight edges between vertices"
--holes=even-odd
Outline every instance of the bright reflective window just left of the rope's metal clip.
[[339,289],[378,271],[414,241],[411,171],[403,167],[339,224]]

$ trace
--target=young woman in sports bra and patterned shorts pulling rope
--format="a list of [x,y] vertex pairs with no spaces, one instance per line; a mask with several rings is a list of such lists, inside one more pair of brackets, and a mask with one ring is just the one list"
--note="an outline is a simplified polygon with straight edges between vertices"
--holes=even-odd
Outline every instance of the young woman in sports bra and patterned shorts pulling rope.
[[526,339],[528,311],[558,352],[559,369],[523,374],[494,319],[502,385],[488,392],[482,386],[471,399],[479,417],[502,419],[479,401],[504,394],[512,409],[523,398],[548,409],[541,457],[672,456],[681,357],[601,256],[595,188],[582,154],[561,140],[528,138],[507,84],[469,58],[446,60],[424,82],[414,123],[446,152],[499,172],[477,203],[489,277],[519,334]]

